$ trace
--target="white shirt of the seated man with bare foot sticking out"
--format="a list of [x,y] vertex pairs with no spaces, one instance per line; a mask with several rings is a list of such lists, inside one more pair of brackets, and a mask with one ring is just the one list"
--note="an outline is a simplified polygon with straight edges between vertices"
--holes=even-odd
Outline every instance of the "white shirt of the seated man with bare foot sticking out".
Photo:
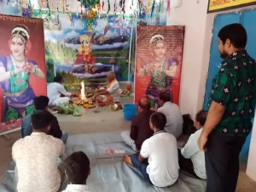
[[144,141],[140,154],[148,158],[147,173],[154,186],[166,187],[178,178],[177,140],[166,131],[154,133]]

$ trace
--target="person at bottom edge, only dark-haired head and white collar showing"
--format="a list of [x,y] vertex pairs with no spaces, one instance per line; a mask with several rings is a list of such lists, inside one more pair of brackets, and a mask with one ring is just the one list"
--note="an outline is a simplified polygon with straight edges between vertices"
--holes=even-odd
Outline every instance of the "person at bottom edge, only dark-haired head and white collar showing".
[[65,174],[71,184],[63,192],[90,192],[86,180],[90,175],[90,160],[84,152],[74,152],[64,162]]

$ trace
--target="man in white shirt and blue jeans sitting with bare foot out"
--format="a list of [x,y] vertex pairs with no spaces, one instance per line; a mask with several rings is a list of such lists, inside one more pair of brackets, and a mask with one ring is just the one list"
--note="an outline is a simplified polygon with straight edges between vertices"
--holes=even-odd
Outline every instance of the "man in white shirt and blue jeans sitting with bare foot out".
[[170,186],[178,178],[177,140],[166,133],[164,114],[154,113],[149,125],[154,135],[144,141],[140,154],[124,155],[124,161],[142,172],[148,183],[157,187]]

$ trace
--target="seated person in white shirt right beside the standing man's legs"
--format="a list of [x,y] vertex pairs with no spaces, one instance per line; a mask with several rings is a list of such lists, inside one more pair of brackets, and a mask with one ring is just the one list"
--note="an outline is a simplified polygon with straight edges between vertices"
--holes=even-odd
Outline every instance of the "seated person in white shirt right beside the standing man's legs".
[[207,179],[205,153],[200,150],[197,144],[201,136],[202,127],[207,120],[207,112],[204,110],[199,111],[195,116],[195,128],[197,131],[191,134],[187,144],[184,145],[182,150],[179,150],[179,166],[186,172],[201,178]]

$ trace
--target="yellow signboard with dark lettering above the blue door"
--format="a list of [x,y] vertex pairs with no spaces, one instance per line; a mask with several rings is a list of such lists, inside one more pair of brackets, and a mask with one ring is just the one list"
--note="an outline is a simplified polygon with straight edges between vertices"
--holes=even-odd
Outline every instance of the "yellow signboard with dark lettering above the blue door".
[[256,0],[209,0],[207,13],[241,8],[253,4],[256,4]]

